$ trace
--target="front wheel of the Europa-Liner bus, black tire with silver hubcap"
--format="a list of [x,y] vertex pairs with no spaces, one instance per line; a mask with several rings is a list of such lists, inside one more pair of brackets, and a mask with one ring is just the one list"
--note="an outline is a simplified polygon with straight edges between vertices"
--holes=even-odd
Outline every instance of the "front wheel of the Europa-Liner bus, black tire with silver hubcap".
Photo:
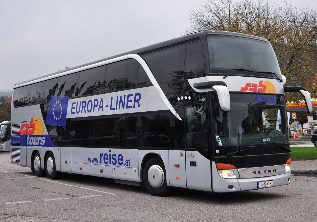
[[166,196],[171,187],[166,184],[164,163],[159,157],[151,157],[144,165],[143,183],[153,196]]

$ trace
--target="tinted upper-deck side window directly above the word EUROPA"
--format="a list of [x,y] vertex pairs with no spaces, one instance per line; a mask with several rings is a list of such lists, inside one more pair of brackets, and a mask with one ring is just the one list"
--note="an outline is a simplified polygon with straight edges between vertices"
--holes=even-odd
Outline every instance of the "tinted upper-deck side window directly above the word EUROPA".
[[105,92],[107,65],[81,71],[75,96]]

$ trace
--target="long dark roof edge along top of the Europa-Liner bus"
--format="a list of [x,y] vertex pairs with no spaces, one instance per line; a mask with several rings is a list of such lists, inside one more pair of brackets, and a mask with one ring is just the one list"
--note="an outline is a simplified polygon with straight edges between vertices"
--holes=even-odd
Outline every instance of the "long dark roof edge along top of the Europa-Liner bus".
[[[100,60],[97,60],[97,61],[94,61],[94,62],[90,62],[90,63],[86,63],[86,64],[83,64],[83,65],[75,66],[75,67],[72,67],[72,68],[69,68],[69,69],[65,69],[65,70],[62,70],[62,71],[54,72],[54,73],[51,73],[51,74],[48,74],[48,75],[44,75],[42,77],[33,78],[33,79],[30,79],[28,81],[24,81],[24,82],[21,82],[21,83],[16,83],[13,86],[13,89],[19,88],[19,87],[24,86],[24,85],[29,85],[29,84],[32,84],[32,83],[36,83],[36,82],[42,82],[43,80],[41,80],[41,79],[47,78],[47,77],[50,77],[50,76],[55,76],[57,74],[61,74],[61,75],[58,75],[58,76],[62,76],[63,72],[67,71],[69,73],[69,71],[72,71],[72,70],[75,70],[75,69],[78,69],[78,68],[81,68],[81,67],[85,67],[85,66],[88,66],[88,65],[92,65],[92,64],[95,64],[95,63],[103,62],[103,61],[106,61],[106,60],[109,60],[109,59],[117,58],[117,57],[120,57],[120,56],[123,56],[123,55],[128,55],[128,54],[143,55],[143,54],[151,53],[151,51],[154,52],[154,51],[157,51],[157,50],[163,50],[165,47],[169,48],[169,47],[171,47],[173,45],[177,46],[177,45],[189,43],[191,41],[202,40],[204,38],[204,36],[207,35],[207,34],[233,35],[233,36],[254,38],[254,39],[263,40],[263,41],[267,41],[268,42],[268,40],[266,40],[264,38],[261,38],[261,37],[258,37],[258,36],[254,36],[254,35],[242,34],[242,33],[225,32],[225,31],[199,31],[199,32],[187,34],[187,35],[184,35],[184,36],[180,36],[180,37],[177,37],[177,38],[174,38],[174,39],[171,39],[171,40],[166,40],[166,41],[163,41],[163,42],[160,42],[160,43],[156,43],[156,44],[153,44],[153,45],[150,45],[150,46],[145,46],[145,47],[142,47],[142,48],[139,48],[139,49],[135,49],[135,50],[132,50],[132,51],[129,51],[129,52],[120,53],[118,55],[114,55],[114,56],[111,56],[111,57],[108,57],[108,58],[105,58],[105,59],[100,59]],[[36,80],[38,80],[38,81],[36,81]],[[29,84],[25,84],[25,83],[29,83]]]

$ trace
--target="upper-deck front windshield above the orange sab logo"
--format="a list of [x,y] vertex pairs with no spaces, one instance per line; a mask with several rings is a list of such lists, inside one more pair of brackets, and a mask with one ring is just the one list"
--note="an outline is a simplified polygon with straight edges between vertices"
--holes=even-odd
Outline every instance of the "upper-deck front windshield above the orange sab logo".
[[270,43],[229,35],[208,35],[210,74],[254,75],[281,79]]

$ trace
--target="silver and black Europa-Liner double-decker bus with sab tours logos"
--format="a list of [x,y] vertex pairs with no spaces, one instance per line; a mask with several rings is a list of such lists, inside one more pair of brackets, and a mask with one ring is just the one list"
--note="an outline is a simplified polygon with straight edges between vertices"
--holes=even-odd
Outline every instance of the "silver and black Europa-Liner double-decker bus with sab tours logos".
[[290,183],[286,78],[263,38],[202,31],[16,84],[11,161],[37,176],[234,192]]

